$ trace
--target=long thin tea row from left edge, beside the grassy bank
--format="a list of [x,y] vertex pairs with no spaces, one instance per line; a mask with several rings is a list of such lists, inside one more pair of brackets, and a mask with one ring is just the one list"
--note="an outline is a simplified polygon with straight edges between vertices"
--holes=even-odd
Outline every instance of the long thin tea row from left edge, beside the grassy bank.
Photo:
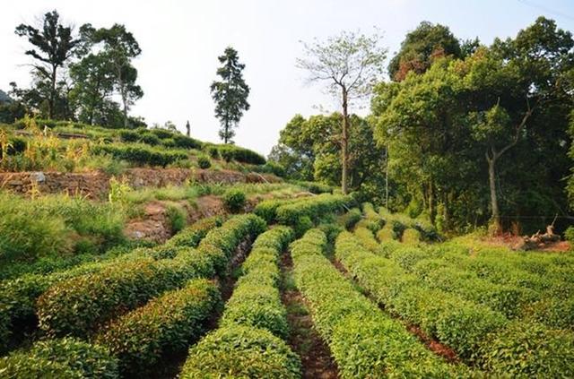
[[51,286],[103,271],[118,263],[137,261],[144,256],[153,259],[173,257],[182,246],[196,247],[211,229],[221,226],[221,223],[222,218],[219,216],[198,220],[172,237],[165,245],[138,248],[130,253],[111,256],[108,260],[83,263],[48,275],[29,274],[15,280],[4,280],[0,283],[0,353],[13,348],[25,330],[33,330],[37,326],[36,301]]

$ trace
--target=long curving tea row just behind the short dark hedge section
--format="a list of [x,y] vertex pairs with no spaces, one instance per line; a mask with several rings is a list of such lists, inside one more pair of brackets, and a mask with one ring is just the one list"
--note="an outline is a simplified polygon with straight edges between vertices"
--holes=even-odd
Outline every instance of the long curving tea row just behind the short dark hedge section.
[[39,297],[39,327],[52,336],[85,336],[187,280],[222,273],[239,243],[265,228],[265,221],[255,215],[236,216],[207,233],[197,249],[179,249],[173,259],[143,257],[59,282]]

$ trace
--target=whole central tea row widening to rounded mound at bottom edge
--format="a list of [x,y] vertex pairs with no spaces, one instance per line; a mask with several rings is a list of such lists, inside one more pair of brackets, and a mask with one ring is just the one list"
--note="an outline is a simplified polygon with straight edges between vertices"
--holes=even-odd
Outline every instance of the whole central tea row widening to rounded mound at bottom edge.
[[300,377],[299,357],[282,340],[288,326],[278,289],[279,255],[291,237],[291,228],[276,227],[257,238],[220,328],[189,350],[179,377]]

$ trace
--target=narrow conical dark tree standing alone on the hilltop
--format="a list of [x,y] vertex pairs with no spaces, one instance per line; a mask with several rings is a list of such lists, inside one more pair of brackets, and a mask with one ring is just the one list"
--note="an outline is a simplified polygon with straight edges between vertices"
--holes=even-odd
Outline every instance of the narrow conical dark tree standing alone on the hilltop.
[[249,86],[243,80],[245,65],[239,63],[239,56],[233,47],[227,47],[217,59],[222,64],[217,74],[222,78],[211,85],[212,98],[215,101],[215,116],[222,128],[219,136],[225,143],[233,141],[239,120],[244,111],[249,110]]

